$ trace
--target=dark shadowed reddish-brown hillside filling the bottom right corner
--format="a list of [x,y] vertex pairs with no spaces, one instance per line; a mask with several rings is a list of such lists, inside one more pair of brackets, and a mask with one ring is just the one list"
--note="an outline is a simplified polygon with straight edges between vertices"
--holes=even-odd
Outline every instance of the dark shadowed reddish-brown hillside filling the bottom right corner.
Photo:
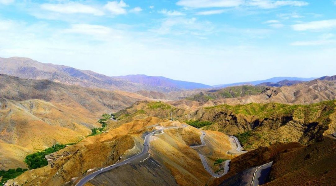
[[[215,179],[212,186],[249,185],[255,167],[273,161],[267,186],[335,185],[336,138],[325,136],[303,146],[276,143],[247,152],[231,161],[229,173]],[[243,176],[243,177],[240,177]],[[245,183],[242,180],[250,178]]]

